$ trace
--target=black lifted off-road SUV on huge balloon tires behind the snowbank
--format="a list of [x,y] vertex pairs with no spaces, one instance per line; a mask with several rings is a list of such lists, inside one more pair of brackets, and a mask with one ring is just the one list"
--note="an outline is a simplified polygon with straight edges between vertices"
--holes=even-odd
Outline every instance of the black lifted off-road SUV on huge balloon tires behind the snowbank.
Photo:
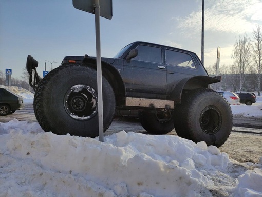
[[[37,66],[28,55],[34,112],[41,127],[59,135],[98,136],[96,58],[66,56],[43,79]],[[104,131],[117,109],[139,111],[143,128],[155,134],[175,128],[181,137],[217,147],[230,135],[230,106],[209,89],[220,77],[208,76],[193,52],[134,42],[114,58],[102,58],[102,75]]]

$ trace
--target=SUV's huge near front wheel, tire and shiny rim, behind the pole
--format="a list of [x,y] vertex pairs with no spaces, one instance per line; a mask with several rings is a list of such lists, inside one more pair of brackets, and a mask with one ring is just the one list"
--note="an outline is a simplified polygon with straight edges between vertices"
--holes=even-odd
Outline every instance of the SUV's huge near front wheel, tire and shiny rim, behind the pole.
[[[116,107],[114,91],[102,77],[104,132]],[[82,64],[59,66],[40,82],[34,96],[34,113],[46,132],[96,137],[98,128],[97,71]]]

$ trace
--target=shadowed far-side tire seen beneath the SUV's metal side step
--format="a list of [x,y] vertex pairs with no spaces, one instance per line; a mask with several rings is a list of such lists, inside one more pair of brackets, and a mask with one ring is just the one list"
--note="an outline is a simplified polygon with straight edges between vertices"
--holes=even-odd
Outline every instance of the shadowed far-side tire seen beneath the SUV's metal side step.
[[139,113],[141,126],[153,134],[166,134],[174,129],[173,118],[170,120],[159,120],[155,111],[142,111]]

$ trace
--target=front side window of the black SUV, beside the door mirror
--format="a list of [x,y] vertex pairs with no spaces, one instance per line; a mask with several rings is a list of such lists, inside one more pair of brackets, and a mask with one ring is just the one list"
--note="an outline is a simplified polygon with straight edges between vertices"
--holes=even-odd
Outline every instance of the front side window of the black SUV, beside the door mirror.
[[162,48],[139,45],[136,49],[138,50],[138,55],[132,60],[162,64]]

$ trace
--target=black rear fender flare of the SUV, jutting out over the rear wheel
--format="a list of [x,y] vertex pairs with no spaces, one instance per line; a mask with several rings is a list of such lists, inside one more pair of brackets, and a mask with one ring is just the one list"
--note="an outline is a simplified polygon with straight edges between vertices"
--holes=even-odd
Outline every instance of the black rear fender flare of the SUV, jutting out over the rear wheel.
[[174,86],[168,100],[173,100],[174,104],[180,104],[183,90],[191,91],[197,88],[208,88],[209,84],[218,83],[220,81],[219,77],[216,78],[202,75],[184,78]]

